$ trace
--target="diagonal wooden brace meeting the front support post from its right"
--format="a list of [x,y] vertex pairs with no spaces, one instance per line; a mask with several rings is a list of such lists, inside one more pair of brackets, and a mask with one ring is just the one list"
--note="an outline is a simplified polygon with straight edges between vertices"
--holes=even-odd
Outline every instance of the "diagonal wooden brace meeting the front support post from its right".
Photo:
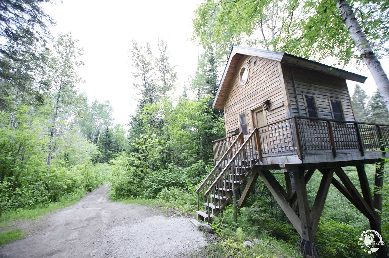
[[312,234],[315,237],[317,226],[319,225],[320,217],[323,212],[324,203],[326,202],[329,186],[331,185],[334,171],[326,169],[323,171],[319,190],[317,190],[314,205],[311,210]]

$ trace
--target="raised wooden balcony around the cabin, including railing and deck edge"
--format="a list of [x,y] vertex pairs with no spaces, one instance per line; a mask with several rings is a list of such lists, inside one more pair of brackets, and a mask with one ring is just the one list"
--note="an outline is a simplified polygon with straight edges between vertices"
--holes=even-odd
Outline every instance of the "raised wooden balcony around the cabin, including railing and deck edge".
[[[385,157],[389,145],[389,125],[345,120],[294,116],[254,129],[255,139],[247,145],[247,157],[256,156],[259,164],[307,164],[340,161],[365,161]],[[213,142],[218,161],[239,136]],[[243,143],[242,139],[240,142]],[[232,148],[232,156],[240,147]],[[259,151],[258,151],[259,150]]]

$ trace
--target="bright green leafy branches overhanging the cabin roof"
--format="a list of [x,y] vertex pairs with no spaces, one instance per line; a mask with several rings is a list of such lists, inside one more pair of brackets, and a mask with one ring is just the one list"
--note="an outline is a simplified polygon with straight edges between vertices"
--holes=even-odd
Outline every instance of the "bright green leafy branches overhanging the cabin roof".
[[[387,55],[387,1],[348,1],[373,50]],[[359,62],[356,44],[343,22],[336,1],[330,0],[204,0],[195,10],[193,39],[216,48],[226,60],[233,44],[284,51],[338,65]]]

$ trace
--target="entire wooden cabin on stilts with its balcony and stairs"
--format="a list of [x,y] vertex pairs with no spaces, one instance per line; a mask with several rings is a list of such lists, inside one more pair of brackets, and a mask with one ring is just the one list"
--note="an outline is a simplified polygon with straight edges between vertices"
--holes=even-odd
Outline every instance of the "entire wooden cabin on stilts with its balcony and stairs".
[[[389,125],[356,121],[346,80],[364,83],[366,77],[287,53],[233,46],[213,102],[224,110],[226,137],[213,142],[215,167],[196,191],[198,219],[210,221],[231,199],[236,212],[261,178],[300,234],[306,257],[318,257],[314,240],[331,184],[381,233],[382,194],[372,196],[364,164],[377,164],[374,189],[382,187]],[[356,166],[362,194],[344,166]],[[286,189],[271,170],[284,172]],[[322,179],[310,205],[306,184],[314,171]],[[387,257],[386,247],[377,253]]]

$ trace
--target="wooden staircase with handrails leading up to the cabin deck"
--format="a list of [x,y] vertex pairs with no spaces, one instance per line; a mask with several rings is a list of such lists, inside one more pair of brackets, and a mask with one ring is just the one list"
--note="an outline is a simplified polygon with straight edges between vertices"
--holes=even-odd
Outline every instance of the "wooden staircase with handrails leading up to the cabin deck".
[[[250,175],[259,158],[255,141],[258,136],[256,134],[258,134],[257,129],[244,140],[243,134],[240,133],[198,187],[196,190],[197,219],[211,221],[212,217],[217,216],[231,198],[234,200],[236,209],[235,191]],[[200,210],[200,200],[204,205],[203,211]]]

